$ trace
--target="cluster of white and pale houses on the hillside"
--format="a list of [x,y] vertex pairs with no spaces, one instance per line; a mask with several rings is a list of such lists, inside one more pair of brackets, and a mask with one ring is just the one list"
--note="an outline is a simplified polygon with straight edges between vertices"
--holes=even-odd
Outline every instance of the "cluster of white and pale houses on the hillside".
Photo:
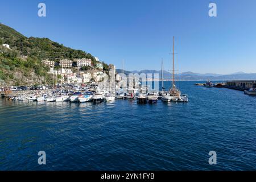
[[[103,71],[103,64],[100,63],[98,58],[96,57],[97,64],[96,68],[98,69],[90,69],[89,71],[81,71],[82,67],[92,67],[92,60],[87,58],[82,59],[74,59],[68,60],[63,59],[59,61],[60,69],[54,69],[56,65],[55,61],[51,60],[42,60],[42,63],[49,67],[49,73],[53,75],[61,75],[63,81],[67,81],[68,84],[80,84],[87,82],[100,82],[104,79],[105,74]],[[74,65],[75,63],[75,65]],[[76,69],[71,68],[77,68]],[[73,71],[72,71],[73,70]],[[113,64],[109,64],[109,72],[114,72],[115,74],[115,66]]]

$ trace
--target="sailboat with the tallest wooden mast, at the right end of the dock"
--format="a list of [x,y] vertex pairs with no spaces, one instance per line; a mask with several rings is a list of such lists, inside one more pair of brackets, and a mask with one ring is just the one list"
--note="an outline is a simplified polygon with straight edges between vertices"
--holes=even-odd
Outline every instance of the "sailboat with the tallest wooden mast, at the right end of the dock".
[[163,96],[162,96],[162,100],[163,101],[167,101],[167,102],[170,102],[170,101],[174,101],[174,102],[177,102],[177,101],[184,101],[184,102],[187,102],[188,101],[188,98],[187,96],[181,96],[181,92],[180,90],[178,90],[176,88],[176,85],[175,85],[175,75],[174,75],[174,36],[172,37],[172,86],[171,88],[169,89],[169,92],[167,93],[164,93]]

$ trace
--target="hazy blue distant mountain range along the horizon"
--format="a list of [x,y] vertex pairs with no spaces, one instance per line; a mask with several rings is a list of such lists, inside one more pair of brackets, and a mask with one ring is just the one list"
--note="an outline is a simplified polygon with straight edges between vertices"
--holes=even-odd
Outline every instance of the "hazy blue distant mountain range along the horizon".
[[[118,73],[122,73],[122,69],[117,69]],[[124,71],[124,73],[127,75],[129,73],[145,73],[146,75],[148,73],[152,73],[152,76],[154,76],[154,73],[159,74],[159,78],[161,77],[161,71],[156,70],[142,70],[142,71]],[[163,79],[164,80],[170,80],[172,78],[172,74],[167,71],[163,71]],[[216,73],[193,73],[193,72],[183,72],[175,75],[176,80],[256,80],[256,73],[243,73],[243,72],[237,72],[232,73],[229,75],[220,75]]]

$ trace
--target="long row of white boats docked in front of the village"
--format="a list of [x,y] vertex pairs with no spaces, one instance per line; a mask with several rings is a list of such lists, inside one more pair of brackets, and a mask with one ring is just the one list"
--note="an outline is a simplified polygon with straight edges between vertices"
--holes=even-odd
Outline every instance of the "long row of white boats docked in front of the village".
[[126,98],[126,99],[136,99],[138,104],[154,104],[158,100],[162,100],[164,102],[188,102],[188,97],[186,95],[181,95],[179,90],[173,92],[164,91],[164,92],[135,92],[135,93],[121,93],[118,90],[115,93],[110,93],[107,91],[97,90],[96,92],[68,92],[63,94],[61,92],[52,93],[34,93],[34,94],[27,94],[27,95],[20,95],[15,97],[10,97],[9,100],[15,101],[36,101],[36,102],[109,102],[114,101],[115,98]]

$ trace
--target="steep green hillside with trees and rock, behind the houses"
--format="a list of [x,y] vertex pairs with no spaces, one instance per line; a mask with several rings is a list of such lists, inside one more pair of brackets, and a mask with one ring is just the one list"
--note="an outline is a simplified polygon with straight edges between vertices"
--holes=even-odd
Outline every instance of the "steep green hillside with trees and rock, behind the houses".
[[[3,47],[9,44],[11,49]],[[41,61],[88,58],[92,64],[97,61],[90,53],[72,49],[48,38],[27,38],[13,28],[0,23],[0,80],[9,85],[36,85],[51,83],[51,76]],[[108,69],[107,64],[103,64]]]

